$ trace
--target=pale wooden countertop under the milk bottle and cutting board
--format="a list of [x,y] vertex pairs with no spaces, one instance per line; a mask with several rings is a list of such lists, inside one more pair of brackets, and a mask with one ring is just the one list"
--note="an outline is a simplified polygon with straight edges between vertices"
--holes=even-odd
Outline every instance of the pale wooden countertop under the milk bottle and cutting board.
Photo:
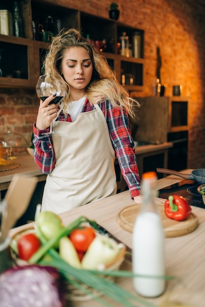
[[[186,170],[184,173],[189,173],[190,171]],[[157,180],[157,187],[160,189],[180,180],[182,179],[177,176],[168,176]],[[122,242],[132,247],[132,234],[123,230],[116,219],[117,213],[122,208],[132,204],[134,202],[130,199],[129,192],[126,191],[64,212],[60,216],[65,225],[80,215],[94,219]],[[166,274],[176,276],[177,280],[168,281],[165,293],[159,298],[147,299],[147,301],[154,303],[156,306],[176,306],[168,305],[168,303],[162,305],[162,303],[167,299],[175,300],[177,295],[184,303],[189,303],[190,306],[205,306],[205,210],[192,207],[192,211],[199,220],[198,228],[189,234],[165,239]],[[26,226],[21,228],[26,228]],[[11,230],[11,235],[14,231],[16,230]],[[131,270],[131,263],[125,261],[122,268]],[[128,291],[134,292],[131,279],[119,279],[118,283]],[[96,301],[87,301],[72,302],[69,306],[100,307],[102,305]]]

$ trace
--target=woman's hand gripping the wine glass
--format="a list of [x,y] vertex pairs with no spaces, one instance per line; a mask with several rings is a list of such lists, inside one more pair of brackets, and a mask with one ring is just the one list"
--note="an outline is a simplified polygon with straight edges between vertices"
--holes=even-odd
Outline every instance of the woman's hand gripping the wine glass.
[[51,95],[44,102],[40,100],[40,106],[38,109],[38,116],[36,120],[36,128],[38,130],[47,129],[51,125],[51,121],[57,115],[57,106],[54,103],[49,103],[54,99]]

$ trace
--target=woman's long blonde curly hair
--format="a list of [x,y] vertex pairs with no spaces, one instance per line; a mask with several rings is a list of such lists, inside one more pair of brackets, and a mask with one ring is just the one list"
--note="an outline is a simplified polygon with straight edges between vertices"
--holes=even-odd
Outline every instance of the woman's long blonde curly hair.
[[[93,64],[92,77],[85,88],[89,101],[98,103],[108,100],[114,107],[126,110],[131,117],[136,116],[136,106],[138,107],[139,103],[129,97],[126,89],[117,80],[115,72],[108,65],[106,58],[97,51],[92,41],[82,37],[76,29],[64,28],[57,36],[53,37],[44,62],[45,74],[61,75],[62,59],[65,52],[72,47],[85,48]],[[61,77],[68,89],[63,100],[65,103],[63,111],[65,112],[70,102],[70,88],[62,75]]]

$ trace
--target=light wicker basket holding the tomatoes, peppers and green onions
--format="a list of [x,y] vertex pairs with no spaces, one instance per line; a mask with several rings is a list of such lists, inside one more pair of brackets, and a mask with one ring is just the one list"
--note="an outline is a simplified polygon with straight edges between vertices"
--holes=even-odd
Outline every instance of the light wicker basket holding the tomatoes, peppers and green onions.
[[[16,241],[18,239],[18,237],[20,237],[23,233],[27,233],[27,232],[35,232],[35,229],[33,227],[31,228],[27,228],[26,230],[23,231],[19,231],[16,232],[13,236],[12,236],[12,240],[11,242],[14,240]],[[16,253],[13,251],[13,249],[10,249],[11,252],[11,257],[13,260],[13,266],[24,266],[24,265],[28,265],[28,262],[25,260],[20,259]],[[119,244],[119,253],[116,256],[116,258],[111,261],[110,263],[107,263],[104,266],[104,270],[107,271],[116,271],[119,270],[121,264],[123,263],[124,259],[125,259],[125,254],[126,254],[126,247],[123,244]],[[112,276],[103,276],[101,275],[102,278],[107,279],[107,280],[111,280],[114,281],[114,277]],[[95,297],[99,297],[101,296],[101,293],[99,293],[98,291],[96,291],[95,289],[87,286],[86,284],[81,284],[81,286],[86,290],[89,291],[89,294],[85,294],[84,291],[76,288],[73,284],[69,283],[69,282],[65,282],[65,287],[66,287],[66,293],[65,293],[65,298],[66,300],[70,300],[70,301],[86,301],[86,300],[91,300],[94,299]]]

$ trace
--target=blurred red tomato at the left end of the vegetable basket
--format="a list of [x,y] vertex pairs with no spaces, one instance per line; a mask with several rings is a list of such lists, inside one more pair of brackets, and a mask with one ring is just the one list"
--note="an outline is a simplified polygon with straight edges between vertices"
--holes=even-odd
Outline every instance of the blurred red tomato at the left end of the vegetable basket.
[[23,234],[17,241],[17,249],[19,258],[29,260],[30,257],[37,252],[41,243],[35,233]]

